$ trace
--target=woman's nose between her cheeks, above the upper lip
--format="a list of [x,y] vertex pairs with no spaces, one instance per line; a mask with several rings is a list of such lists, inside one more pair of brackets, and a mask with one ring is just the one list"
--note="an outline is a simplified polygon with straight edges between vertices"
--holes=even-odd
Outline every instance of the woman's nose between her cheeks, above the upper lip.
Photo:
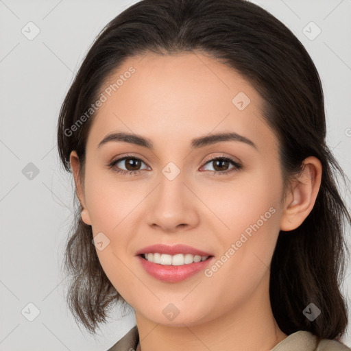
[[160,182],[148,196],[147,224],[162,232],[176,232],[197,226],[199,199],[185,184],[182,172],[173,180],[160,174]]

